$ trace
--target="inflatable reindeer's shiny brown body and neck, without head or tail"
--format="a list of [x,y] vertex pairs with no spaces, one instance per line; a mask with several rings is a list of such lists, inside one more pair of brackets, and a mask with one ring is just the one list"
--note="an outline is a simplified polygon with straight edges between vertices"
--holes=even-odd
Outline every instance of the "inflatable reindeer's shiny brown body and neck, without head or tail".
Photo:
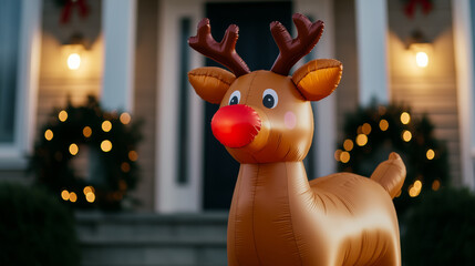
[[302,162],[241,165],[229,265],[400,265],[399,247],[392,201],[378,183],[334,174],[309,184]]

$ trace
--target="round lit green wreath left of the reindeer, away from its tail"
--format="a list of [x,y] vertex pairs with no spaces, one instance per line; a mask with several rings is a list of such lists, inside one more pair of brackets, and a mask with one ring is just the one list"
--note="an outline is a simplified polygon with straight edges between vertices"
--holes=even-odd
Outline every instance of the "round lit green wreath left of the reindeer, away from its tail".
[[128,192],[138,180],[140,124],[128,113],[105,112],[93,96],[83,106],[53,111],[30,158],[37,183],[73,207],[134,203]]

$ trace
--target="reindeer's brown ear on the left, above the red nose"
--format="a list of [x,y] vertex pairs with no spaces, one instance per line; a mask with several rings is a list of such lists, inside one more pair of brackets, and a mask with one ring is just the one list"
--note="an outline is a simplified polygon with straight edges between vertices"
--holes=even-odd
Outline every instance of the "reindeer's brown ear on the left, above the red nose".
[[189,71],[188,80],[203,100],[219,104],[236,76],[224,69],[206,66]]

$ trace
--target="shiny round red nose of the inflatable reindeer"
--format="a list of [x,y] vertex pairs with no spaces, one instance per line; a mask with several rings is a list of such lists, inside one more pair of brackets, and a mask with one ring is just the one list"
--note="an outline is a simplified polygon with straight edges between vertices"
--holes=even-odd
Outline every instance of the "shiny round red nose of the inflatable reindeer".
[[242,147],[251,143],[259,133],[260,117],[247,105],[228,105],[219,109],[213,116],[211,130],[223,145]]

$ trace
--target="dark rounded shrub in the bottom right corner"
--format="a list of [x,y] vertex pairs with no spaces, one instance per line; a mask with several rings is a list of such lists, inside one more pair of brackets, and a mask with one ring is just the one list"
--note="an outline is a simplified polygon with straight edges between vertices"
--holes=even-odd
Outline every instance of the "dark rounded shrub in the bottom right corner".
[[405,265],[474,265],[475,195],[444,188],[425,195],[406,216]]

